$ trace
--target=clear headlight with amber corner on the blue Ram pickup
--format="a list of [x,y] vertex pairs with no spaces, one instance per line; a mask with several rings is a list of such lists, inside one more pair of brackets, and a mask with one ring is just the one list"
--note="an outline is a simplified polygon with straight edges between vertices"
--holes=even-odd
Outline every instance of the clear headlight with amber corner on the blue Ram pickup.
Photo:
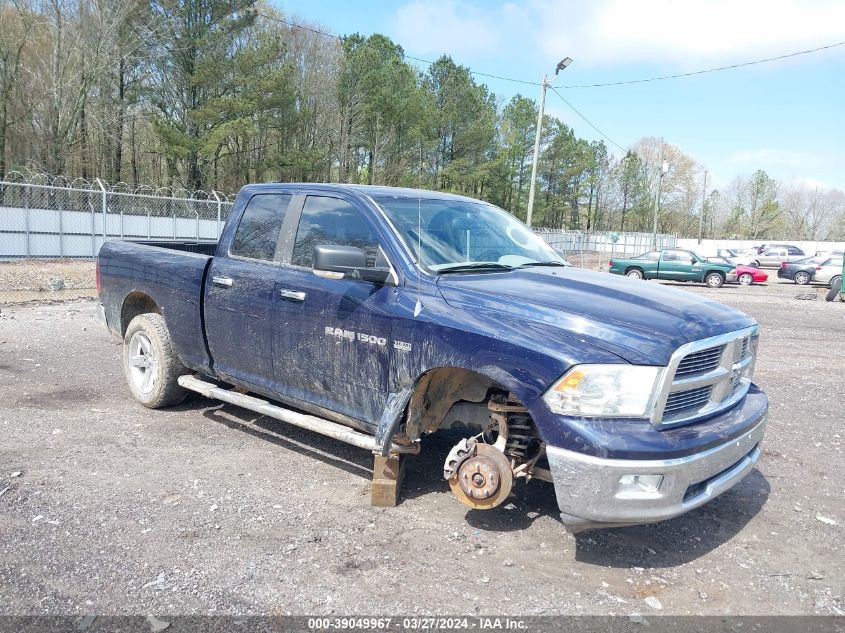
[[660,367],[576,365],[543,396],[560,415],[645,418]]

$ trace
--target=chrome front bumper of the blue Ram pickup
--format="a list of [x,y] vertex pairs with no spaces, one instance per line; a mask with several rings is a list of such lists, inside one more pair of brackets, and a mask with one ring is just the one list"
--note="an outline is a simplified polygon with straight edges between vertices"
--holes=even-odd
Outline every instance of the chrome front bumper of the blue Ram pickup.
[[[760,459],[766,411],[753,428],[726,444],[665,460],[605,459],[547,446],[561,518],[577,531],[669,519],[722,494]],[[621,486],[626,475],[660,475],[657,489]],[[628,478],[630,479],[630,477]]]

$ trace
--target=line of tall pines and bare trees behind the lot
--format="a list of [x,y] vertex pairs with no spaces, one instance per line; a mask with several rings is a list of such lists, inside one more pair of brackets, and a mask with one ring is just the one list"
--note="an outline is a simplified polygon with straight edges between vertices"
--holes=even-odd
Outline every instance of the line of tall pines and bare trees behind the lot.
[[[384,35],[328,37],[256,0],[0,0],[0,176],[411,186],[525,219],[536,122],[535,100],[503,102],[448,55],[420,68]],[[657,139],[614,154],[550,116],[541,138],[535,225],[651,230]],[[701,165],[663,156],[660,231],[845,235],[841,192],[762,172],[705,192]]]

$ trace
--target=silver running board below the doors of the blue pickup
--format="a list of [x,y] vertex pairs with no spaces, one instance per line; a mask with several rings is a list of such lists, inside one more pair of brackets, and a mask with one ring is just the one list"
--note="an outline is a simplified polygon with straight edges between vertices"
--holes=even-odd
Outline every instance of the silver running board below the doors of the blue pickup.
[[[206,398],[222,400],[223,402],[228,402],[229,404],[234,404],[235,406],[255,411],[256,413],[275,418],[276,420],[281,420],[282,422],[287,422],[288,424],[293,424],[294,426],[308,429],[309,431],[314,431],[315,433],[320,433],[326,437],[331,437],[359,448],[365,448],[372,452],[378,452],[375,437],[367,435],[366,433],[361,433],[355,429],[351,429],[348,426],[338,424],[337,422],[318,418],[314,415],[297,413],[296,411],[285,409],[284,407],[271,404],[267,400],[262,400],[261,398],[256,398],[255,396],[250,396],[245,393],[222,389],[217,385],[206,382],[196,376],[179,376],[179,384],[189,391],[196,391],[197,393],[202,394]],[[419,450],[419,444],[414,444],[412,446],[391,444],[388,452],[389,454],[415,454],[419,453]]]

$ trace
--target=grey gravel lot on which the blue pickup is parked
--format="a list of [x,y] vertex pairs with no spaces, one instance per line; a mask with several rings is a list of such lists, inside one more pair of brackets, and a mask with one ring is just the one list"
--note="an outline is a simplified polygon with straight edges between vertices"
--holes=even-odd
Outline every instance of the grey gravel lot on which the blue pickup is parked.
[[135,404],[92,302],[4,306],[0,614],[841,615],[845,304],[683,287],[760,322],[759,470],[678,519],[577,537],[543,482],[467,511],[437,436],[402,504],[372,508],[363,451],[207,400]]

